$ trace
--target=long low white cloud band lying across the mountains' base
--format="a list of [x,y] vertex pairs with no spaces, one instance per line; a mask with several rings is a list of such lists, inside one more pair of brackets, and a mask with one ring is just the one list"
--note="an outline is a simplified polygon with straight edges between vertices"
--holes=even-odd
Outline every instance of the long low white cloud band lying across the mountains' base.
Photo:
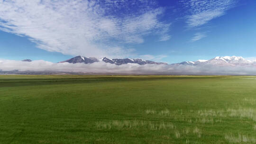
[[13,60],[0,61],[0,71],[20,72],[84,72],[84,73],[116,73],[116,74],[175,74],[175,75],[256,75],[256,65],[216,66],[216,65],[173,65],[128,63],[115,65],[98,62],[84,63],[52,63],[43,60],[21,62]]

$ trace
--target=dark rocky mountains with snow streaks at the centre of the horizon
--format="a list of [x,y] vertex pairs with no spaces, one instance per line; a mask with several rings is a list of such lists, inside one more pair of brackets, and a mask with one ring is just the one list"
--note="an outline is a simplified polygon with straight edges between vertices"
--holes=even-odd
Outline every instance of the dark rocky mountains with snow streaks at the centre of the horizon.
[[76,56],[73,57],[69,60],[63,61],[63,62],[59,62],[59,63],[95,63],[95,62],[100,62],[103,61],[105,63],[111,63],[111,64],[116,64],[116,65],[121,65],[121,64],[127,64],[127,63],[137,63],[140,65],[144,65],[144,64],[167,64],[167,63],[157,63],[157,62],[153,62],[153,61],[148,61],[148,60],[143,60],[143,59],[130,59],[130,58],[125,58],[125,59],[110,59],[110,58],[101,58],[101,59],[97,59],[95,57],[83,57],[83,56]]

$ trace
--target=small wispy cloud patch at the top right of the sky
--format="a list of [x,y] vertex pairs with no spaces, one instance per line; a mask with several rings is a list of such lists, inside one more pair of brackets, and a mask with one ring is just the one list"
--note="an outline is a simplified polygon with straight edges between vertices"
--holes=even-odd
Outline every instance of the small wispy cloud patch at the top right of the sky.
[[199,27],[218,18],[236,4],[236,0],[181,0],[188,9],[188,27]]

